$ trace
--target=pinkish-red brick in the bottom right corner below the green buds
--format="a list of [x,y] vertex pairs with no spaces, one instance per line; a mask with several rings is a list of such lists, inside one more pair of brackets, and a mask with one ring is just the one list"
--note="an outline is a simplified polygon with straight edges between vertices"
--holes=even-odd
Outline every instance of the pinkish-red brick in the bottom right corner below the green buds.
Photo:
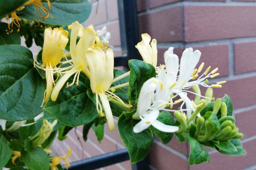
[[209,163],[190,166],[189,170],[241,170],[250,167],[256,162],[255,145],[256,140],[244,143],[243,147],[247,153],[237,157],[213,153]]

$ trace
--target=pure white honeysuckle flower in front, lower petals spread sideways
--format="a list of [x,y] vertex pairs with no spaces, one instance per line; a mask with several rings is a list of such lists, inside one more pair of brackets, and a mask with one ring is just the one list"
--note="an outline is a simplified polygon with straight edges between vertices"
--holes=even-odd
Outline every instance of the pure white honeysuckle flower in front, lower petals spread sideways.
[[[160,82],[157,78],[151,78],[148,79],[141,88],[138,99],[137,112],[135,115],[133,115],[133,118],[139,116],[141,119],[141,121],[137,123],[133,128],[135,133],[139,133],[145,130],[150,125],[163,132],[175,132],[179,129],[177,126],[165,125],[157,120],[157,117],[160,113],[160,108],[159,105],[155,106],[154,102],[158,103],[157,99],[159,97],[155,97],[157,95],[155,95],[154,91],[157,89],[159,84],[161,88],[162,82]],[[156,94],[158,92],[159,91],[156,91]],[[151,105],[151,103],[153,104]]]

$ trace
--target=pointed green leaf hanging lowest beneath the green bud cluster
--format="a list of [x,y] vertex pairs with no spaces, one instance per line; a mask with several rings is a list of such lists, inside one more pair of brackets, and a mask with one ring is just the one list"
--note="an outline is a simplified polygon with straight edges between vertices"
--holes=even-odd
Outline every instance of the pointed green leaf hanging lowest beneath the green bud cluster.
[[190,145],[189,164],[201,164],[206,161],[209,162],[210,156],[207,150],[205,150],[201,144],[189,135],[184,135],[187,142]]

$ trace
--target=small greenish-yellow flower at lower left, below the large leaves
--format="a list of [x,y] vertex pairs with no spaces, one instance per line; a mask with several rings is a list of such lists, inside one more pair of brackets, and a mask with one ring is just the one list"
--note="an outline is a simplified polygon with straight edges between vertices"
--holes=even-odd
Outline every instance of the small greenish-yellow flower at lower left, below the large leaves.
[[43,144],[44,141],[48,139],[52,133],[53,127],[57,124],[57,122],[57,120],[54,120],[52,123],[50,123],[47,121],[47,119],[44,119],[41,129],[38,131],[38,133],[29,139],[32,143],[32,146]]

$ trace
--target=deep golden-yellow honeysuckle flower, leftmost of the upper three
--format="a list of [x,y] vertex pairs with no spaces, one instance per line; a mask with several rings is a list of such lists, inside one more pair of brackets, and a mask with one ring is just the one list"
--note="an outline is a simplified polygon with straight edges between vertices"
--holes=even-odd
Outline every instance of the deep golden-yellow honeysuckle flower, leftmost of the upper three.
[[[44,46],[42,53],[43,65],[36,65],[36,60],[34,62],[35,66],[41,68],[45,71],[46,74],[46,82],[47,87],[44,92],[44,101],[46,103],[51,91],[52,87],[55,84],[53,74],[56,73],[55,70],[60,69],[57,68],[56,65],[59,64],[61,59],[64,56],[64,50],[68,42],[68,32],[63,28],[46,28],[44,30]],[[58,73],[58,72],[57,72]]]

